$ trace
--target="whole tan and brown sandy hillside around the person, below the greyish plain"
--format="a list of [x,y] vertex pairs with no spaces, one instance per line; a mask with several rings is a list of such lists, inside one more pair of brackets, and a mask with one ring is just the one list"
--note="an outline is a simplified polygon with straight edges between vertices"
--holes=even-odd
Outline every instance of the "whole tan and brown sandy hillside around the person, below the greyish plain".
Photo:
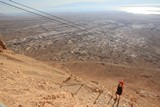
[[125,94],[118,107],[158,107],[159,78],[156,69],[94,62],[46,64],[3,50],[0,104],[4,107],[113,107],[117,105],[113,101],[117,81],[124,79]]

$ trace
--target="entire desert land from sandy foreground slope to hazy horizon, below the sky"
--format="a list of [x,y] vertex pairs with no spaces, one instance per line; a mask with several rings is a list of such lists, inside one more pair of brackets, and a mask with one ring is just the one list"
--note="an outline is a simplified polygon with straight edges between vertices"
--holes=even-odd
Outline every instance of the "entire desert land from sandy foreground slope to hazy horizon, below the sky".
[[0,102],[7,107],[117,107],[119,80],[118,107],[160,106],[160,16],[56,14],[75,28],[1,16],[8,49],[0,53]]

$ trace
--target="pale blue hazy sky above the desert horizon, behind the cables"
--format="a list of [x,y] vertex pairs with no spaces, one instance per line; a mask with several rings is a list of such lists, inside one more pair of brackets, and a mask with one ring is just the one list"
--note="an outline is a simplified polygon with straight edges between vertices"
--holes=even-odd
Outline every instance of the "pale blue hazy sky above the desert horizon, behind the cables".
[[[0,0],[11,3],[9,0]],[[87,12],[122,10],[130,13],[160,14],[160,0],[13,0],[36,9],[51,12]],[[15,4],[14,4],[15,5]],[[18,6],[18,5],[16,5]],[[17,13],[21,10],[0,3],[0,13]]]

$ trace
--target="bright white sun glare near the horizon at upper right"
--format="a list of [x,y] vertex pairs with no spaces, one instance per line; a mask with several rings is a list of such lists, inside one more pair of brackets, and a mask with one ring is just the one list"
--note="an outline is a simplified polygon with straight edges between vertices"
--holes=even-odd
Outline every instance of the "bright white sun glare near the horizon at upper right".
[[160,14],[158,7],[120,7],[119,10],[133,14]]

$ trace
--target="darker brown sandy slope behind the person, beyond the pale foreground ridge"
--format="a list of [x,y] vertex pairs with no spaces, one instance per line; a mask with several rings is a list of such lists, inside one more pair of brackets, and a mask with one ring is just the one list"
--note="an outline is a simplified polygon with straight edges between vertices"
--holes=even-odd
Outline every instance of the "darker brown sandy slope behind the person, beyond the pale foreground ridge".
[[160,70],[138,68],[111,63],[74,62],[63,63],[72,74],[93,83],[101,84],[105,89],[115,92],[117,82],[125,81],[123,97],[136,100],[139,107],[158,107],[160,105]]

